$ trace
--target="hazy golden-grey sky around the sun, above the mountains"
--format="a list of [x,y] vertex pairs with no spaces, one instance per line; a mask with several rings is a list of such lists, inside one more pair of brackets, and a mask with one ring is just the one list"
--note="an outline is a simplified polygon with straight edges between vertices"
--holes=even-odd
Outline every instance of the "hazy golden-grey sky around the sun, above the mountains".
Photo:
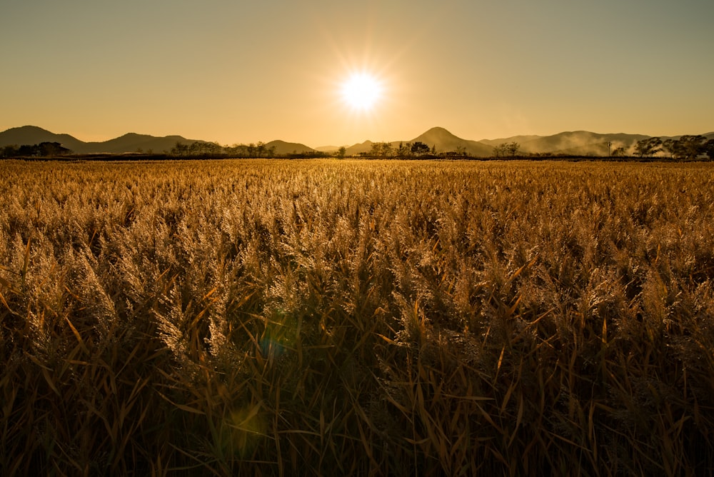
[[[712,0],[3,0],[0,131],[220,144],[714,131]],[[356,113],[351,71],[383,82]]]

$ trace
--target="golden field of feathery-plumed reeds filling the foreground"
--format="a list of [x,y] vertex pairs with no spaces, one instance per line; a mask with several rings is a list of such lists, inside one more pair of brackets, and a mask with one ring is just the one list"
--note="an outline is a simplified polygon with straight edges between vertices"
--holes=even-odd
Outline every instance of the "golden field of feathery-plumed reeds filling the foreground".
[[711,164],[0,162],[0,473],[714,470]]

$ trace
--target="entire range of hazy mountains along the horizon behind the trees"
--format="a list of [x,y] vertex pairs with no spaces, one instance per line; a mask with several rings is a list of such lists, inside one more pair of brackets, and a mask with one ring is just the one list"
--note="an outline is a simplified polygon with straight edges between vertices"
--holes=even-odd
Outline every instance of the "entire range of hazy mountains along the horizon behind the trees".
[[[714,139],[714,131],[704,134],[708,139]],[[552,136],[511,136],[501,139],[482,139],[473,141],[461,139],[441,127],[431,128],[423,134],[408,141],[392,141],[393,149],[400,144],[423,142],[433,147],[438,152],[456,151],[461,149],[471,156],[489,157],[494,155],[494,148],[504,143],[517,142],[520,151],[531,154],[564,154],[573,156],[605,156],[608,151],[618,147],[632,151],[634,144],[640,139],[651,136],[643,134],[598,134],[590,131],[567,131]],[[680,136],[670,136],[678,139]],[[662,137],[668,139],[668,137]],[[57,142],[74,154],[125,154],[137,151],[161,153],[171,151],[177,142],[191,144],[199,139],[186,139],[183,136],[149,136],[148,134],[124,134],[116,139],[103,142],[84,142],[69,134],[55,134],[37,126],[22,126],[0,132],[0,147],[20,146],[23,144],[40,144],[42,142]],[[354,144],[347,147],[346,154],[354,156],[372,149],[372,141]],[[608,146],[609,144],[609,146]],[[313,151],[333,151],[338,148],[323,146],[313,149],[305,144],[290,143],[286,141],[271,141],[266,143],[268,148],[274,147],[276,154],[310,153]]]

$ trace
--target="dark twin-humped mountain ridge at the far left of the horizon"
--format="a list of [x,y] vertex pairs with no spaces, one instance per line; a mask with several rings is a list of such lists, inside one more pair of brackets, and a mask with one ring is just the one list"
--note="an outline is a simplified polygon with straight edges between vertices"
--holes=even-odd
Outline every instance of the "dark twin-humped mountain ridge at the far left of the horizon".
[[140,149],[144,152],[151,150],[156,153],[171,151],[177,142],[191,144],[193,140],[182,136],[156,137],[148,134],[129,133],[109,141],[84,142],[69,134],[54,134],[37,126],[22,126],[0,132],[0,147],[40,144],[41,142],[58,142],[63,147],[73,151],[74,154],[122,154],[136,152]]

